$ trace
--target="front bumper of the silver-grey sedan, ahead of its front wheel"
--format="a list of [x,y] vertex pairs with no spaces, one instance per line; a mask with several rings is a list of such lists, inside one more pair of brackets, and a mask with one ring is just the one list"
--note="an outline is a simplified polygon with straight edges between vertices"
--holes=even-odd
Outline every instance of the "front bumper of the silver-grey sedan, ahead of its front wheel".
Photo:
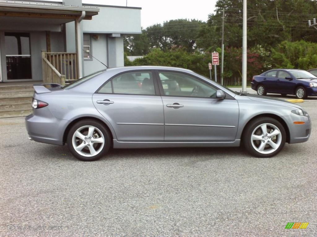
[[[288,128],[290,133],[289,143],[303,143],[306,142],[312,131],[312,124],[310,117],[293,114],[288,116]],[[305,122],[305,124],[294,124],[294,121]]]

